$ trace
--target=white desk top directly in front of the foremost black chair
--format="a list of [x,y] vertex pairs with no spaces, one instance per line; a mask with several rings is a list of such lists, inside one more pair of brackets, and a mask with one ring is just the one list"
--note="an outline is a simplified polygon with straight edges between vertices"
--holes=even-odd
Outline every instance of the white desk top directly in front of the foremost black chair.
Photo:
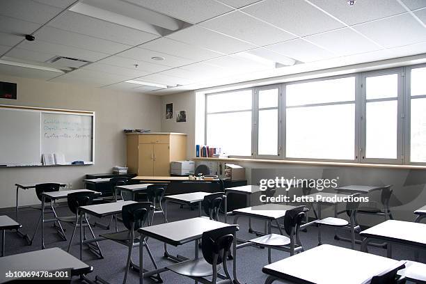
[[158,239],[173,246],[200,239],[203,232],[233,226],[227,223],[213,221],[207,218],[191,218],[181,221],[163,223],[155,226],[143,227],[138,230],[142,235]]

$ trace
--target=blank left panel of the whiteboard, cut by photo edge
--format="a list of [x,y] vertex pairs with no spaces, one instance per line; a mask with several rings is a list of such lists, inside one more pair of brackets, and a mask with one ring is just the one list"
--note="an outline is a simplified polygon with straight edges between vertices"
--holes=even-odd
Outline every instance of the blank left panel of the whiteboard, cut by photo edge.
[[0,109],[0,164],[40,164],[40,111]]

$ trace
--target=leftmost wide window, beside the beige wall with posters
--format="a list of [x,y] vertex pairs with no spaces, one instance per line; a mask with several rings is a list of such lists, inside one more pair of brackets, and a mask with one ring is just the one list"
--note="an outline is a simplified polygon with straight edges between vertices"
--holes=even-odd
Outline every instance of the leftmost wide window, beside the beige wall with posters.
[[206,143],[232,156],[251,156],[252,90],[207,95]]

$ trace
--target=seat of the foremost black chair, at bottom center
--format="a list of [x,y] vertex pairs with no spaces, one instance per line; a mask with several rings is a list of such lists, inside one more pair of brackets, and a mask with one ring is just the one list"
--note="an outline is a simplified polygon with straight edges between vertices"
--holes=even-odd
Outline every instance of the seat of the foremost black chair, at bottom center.
[[[166,267],[166,269],[173,271],[183,276],[191,277],[206,277],[213,275],[213,268],[210,263],[205,261],[204,258],[197,258],[195,260],[185,260],[178,262],[174,265]],[[221,266],[217,266],[217,271],[221,269]]]

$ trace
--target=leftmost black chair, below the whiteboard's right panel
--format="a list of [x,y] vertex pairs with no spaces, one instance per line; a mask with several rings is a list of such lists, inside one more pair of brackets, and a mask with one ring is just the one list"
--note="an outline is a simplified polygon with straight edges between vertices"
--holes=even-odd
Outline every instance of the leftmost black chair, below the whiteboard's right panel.
[[[38,200],[40,200],[40,202],[42,202],[42,193],[59,191],[59,187],[60,187],[60,184],[57,184],[57,183],[36,184],[36,195],[37,195]],[[49,205],[47,205],[47,203],[49,203]],[[56,214],[54,207],[55,207],[55,205],[54,205],[53,201],[50,198],[45,198],[45,214],[47,214],[47,213],[54,214],[55,219],[58,222],[58,227],[56,227],[56,221],[54,222],[54,227],[56,228],[56,230],[58,230],[61,237],[66,241],[67,238],[65,237],[65,232],[62,228],[61,221],[58,220],[58,215]],[[40,227],[41,217],[42,217],[42,212],[41,212],[42,211],[42,205],[40,204],[40,205],[31,206],[31,208],[35,209],[35,210],[40,210],[40,218],[38,219],[36,230],[34,230],[33,237],[30,240],[30,244],[33,242],[34,237],[36,237],[38,227]]]

